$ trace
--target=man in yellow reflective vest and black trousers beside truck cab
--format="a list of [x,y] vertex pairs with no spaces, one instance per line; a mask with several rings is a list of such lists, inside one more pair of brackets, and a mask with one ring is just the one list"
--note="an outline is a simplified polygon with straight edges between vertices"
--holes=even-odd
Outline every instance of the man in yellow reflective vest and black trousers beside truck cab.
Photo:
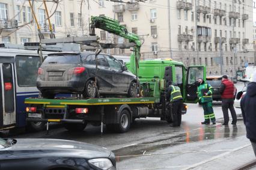
[[183,106],[183,97],[177,84],[170,85],[167,91],[166,99],[171,102],[172,108],[172,124],[171,127],[180,126],[181,110]]

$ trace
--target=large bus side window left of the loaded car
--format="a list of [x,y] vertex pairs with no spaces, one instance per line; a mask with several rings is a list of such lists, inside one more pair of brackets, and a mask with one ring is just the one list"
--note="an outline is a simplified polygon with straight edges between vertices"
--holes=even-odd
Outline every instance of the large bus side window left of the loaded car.
[[37,85],[37,70],[40,65],[39,56],[16,56],[17,83],[19,87]]

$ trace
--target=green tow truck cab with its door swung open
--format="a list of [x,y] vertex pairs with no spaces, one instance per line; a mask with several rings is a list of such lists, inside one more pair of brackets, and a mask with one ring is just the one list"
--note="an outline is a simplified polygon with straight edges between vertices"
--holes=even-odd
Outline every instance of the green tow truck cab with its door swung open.
[[[130,68],[130,63],[126,64]],[[138,69],[139,82],[141,87],[147,87],[144,93],[147,97],[160,97],[160,93],[166,91],[169,83],[177,83],[183,95],[184,102],[197,103],[198,78],[206,80],[206,67],[190,66],[185,67],[182,62],[172,59],[152,59],[139,61]],[[160,85],[159,93],[154,91],[154,81],[159,79],[164,85]]]

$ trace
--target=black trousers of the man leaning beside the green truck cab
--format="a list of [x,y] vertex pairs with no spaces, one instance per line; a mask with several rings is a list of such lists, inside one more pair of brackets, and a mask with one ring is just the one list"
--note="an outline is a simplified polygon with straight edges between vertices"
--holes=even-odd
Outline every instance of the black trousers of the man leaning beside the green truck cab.
[[177,100],[172,102],[173,126],[180,126],[181,124],[182,106],[183,106],[182,100]]

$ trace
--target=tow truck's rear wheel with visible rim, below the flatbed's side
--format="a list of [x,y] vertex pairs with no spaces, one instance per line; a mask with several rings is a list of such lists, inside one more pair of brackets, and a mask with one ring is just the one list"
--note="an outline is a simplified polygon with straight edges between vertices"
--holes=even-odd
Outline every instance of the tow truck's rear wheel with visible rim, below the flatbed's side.
[[120,133],[127,132],[130,129],[130,113],[124,109],[119,117],[118,124],[115,126],[115,130]]

